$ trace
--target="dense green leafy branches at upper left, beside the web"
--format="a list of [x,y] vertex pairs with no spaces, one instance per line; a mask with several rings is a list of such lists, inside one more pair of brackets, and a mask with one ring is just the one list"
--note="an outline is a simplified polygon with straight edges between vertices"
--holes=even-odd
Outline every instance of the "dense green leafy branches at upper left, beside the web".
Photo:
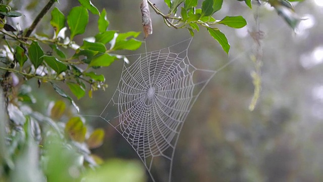
[[[97,75],[93,69],[109,66],[117,59],[126,59],[114,52],[138,49],[142,42],[135,38],[140,32],[117,33],[115,30],[109,30],[106,11],[103,9],[99,12],[90,1],[80,0],[81,6],[72,8],[67,17],[58,8],[51,10],[50,24],[54,31],[54,36],[51,36],[53,38],[32,34],[38,22],[55,2],[57,1],[50,0],[46,4],[25,35],[6,23],[6,17],[19,17],[22,14],[11,11],[8,5],[0,5],[7,7],[7,9],[0,7],[2,15],[0,18],[3,22],[0,34],[5,38],[10,50],[3,58],[5,61],[0,65],[0,70],[21,75],[24,79],[37,78],[42,82],[64,81],[77,99],[85,96],[86,89],[89,97],[92,97],[93,91],[107,86],[104,83],[104,75]],[[78,45],[74,38],[82,36],[85,32],[89,19],[88,12],[99,16],[98,32],[93,35],[94,41],[83,37],[85,39],[82,44]],[[69,33],[66,33],[68,29]],[[74,54],[69,55],[71,52]],[[90,85],[89,88],[85,83]],[[57,93],[63,97],[66,95],[63,89]]]

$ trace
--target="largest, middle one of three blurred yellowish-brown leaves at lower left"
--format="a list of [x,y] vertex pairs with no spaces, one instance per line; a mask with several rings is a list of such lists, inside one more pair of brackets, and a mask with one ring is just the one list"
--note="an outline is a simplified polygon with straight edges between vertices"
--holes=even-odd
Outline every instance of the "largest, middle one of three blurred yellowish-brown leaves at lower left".
[[86,127],[81,118],[71,118],[65,125],[65,132],[69,134],[72,140],[83,142],[85,140]]

